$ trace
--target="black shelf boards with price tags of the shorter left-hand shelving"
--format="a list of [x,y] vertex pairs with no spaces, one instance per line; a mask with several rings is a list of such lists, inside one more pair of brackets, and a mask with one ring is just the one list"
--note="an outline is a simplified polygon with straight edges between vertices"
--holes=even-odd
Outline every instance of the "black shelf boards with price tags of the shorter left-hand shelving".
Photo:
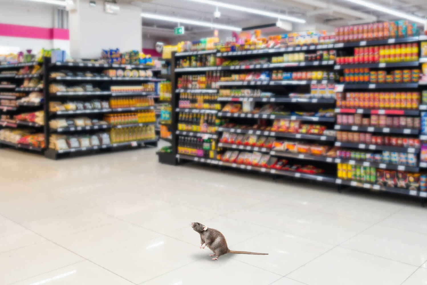
[[[117,79],[117,78],[110,78],[107,76],[56,76],[54,78],[51,78],[49,74],[52,71],[57,70],[70,70],[73,72],[78,71],[86,71],[86,70],[94,70],[98,73],[101,73],[102,70],[105,69],[111,69],[111,68],[132,68],[132,69],[152,69],[152,66],[142,66],[142,65],[118,65],[118,64],[100,64],[100,63],[90,63],[90,62],[56,62],[51,63],[50,58],[44,58],[43,62],[30,62],[30,63],[22,63],[22,64],[7,64],[7,65],[0,65],[0,71],[2,70],[17,70],[23,66],[33,66],[35,64],[41,64],[43,67],[43,86],[44,88],[36,88],[36,87],[19,87],[19,80],[23,80],[25,78],[32,78],[32,77],[39,77],[41,75],[33,76],[33,75],[24,75],[24,76],[2,76],[0,79],[6,80],[14,80],[16,84],[10,84],[8,86],[0,86],[0,91],[7,90],[10,92],[10,89],[16,91],[16,92],[33,92],[33,91],[41,91],[44,93],[44,102],[40,104],[31,104],[31,103],[23,103],[18,105],[17,107],[10,107],[10,106],[0,106],[0,112],[3,111],[15,111],[16,112],[24,112],[22,108],[43,108],[44,110],[44,125],[39,125],[34,122],[23,122],[23,121],[16,121],[16,122],[5,122],[0,120],[0,128],[9,127],[9,128],[18,128],[18,127],[31,127],[40,129],[44,133],[44,139],[45,139],[45,145],[46,148],[36,148],[29,145],[22,145],[22,144],[15,144],[15,143],[9,143],[5,141],[0,141],[1,145],[8,145],[13,146],[15,148],[23,148],[23,149],[29,149],[32,151],[38,151],[39,153],[44,153],[45,157],[51,158],[51,159],[57,159],[58,157],[62,157],[63,154],[67,153],[73,153],[73,154],[79,154],[79,153],[94,153],[99,152],[99,150],[118,150],[118,149],[124,149],[124,148],[136,148],[140,146],[156,146],[157,145],[157,137],[155,140],[135,140],[131,142],[124,142],[124,143],[111,143],[111,144],[105,144],[105,145],[98,145],[98,146],[91,146],[91,147],[81,147],[81,148],[70,148],[66,150],[53,150],[49,148],[49,138],[50,134],[52,133],[58,133],[58,134],[92,134],[93,132],[98,131],[108,131],[109,129],[113,128],[126,128],[126,127],[138,127],[138,126],[146,126],[146,125],[154,125],[155,122],[146,122],[146,123],[137,123],[137,124],[127,124],[127,125],[93,125],[93,126],[86,126],[86,127],[70,127],[70,128],[58,128],[58,129],[51,129],[49,126],[50,119],[53,119],[56,116],[90,116],[95,118],[99,118],[99,116],[102,116],[104,113],[117,113],[117,112],[131,112],[131,111],[140,111],[140,110],[152,110],[155,109],[155,106],[148,106],[148,107],[131,107],[131,108],[104,108],[104,109],[98,109],[98,110],[76,110],[76,111],[57,111],[57,112],[50,112],[49,111],[49,102],[50,101],[61,101],[61,100],[68,100],[68,99],[74,99],[79,101],[84,101],[85,99],[103,99],[108,100],[110,97],[113,96],[156,96],[157,92],[137,92],[137,93],[129,93],[129,92],[111,92],[110,86],[112,84],[114,85],[121,85],[121,84],[135,84],[140,85],[143,82],[158,82],[163,79],[160,79],[158,77],[146,77],[146,78],[132,78],[132,79]],[[157,71],[160,70],[155,70]],[[154,72],[154,70],[153,70]],[[70,83],[70,84],[82,84],[82,83],[89,83],[92,82],[94,85],[100,87],[101,91],[82,91],[82,92],[66,92],[66,91],[60,91],[56,93],[50,93],[49,92],[49,84],[52,82],[61,81],[64,83]],[[0,99],[15,99],[13,96],[0,96]],[[31,110],[31,109],[30,109]]]

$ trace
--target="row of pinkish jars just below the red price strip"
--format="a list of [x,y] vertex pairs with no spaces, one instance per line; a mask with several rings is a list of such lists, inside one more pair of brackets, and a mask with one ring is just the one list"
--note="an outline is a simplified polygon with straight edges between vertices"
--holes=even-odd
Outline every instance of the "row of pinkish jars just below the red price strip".
[[410,116],[387,116],[371,114],[369,117],[363,117],[362,114],[337,114],[337,125],[357,125],[366,127],[380,127],[380,128],[421,128],[419,117]]

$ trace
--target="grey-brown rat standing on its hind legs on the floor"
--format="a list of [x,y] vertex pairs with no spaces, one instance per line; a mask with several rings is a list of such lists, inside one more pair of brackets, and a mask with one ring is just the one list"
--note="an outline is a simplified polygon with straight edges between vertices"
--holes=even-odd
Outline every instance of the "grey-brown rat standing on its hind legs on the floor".
[[227,246],[227,241],[225,241],[224,235],[219,230],[208,228],[205,225],[197,222],[191,223],[190,226],[193,228],[193,230],[200,234],[200,249],[208,247],[213,251],[213,253],[215,253],[209,254],[209,256],[216,256],[212,258],[212,260],[218,260],[219,256],[227,253],[268,254],[230,250]]

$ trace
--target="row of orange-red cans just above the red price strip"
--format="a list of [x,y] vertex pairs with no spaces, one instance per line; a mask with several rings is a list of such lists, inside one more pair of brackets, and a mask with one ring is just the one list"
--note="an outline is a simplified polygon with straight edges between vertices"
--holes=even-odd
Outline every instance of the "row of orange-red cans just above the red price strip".
[[418,109],[419,92],[336,93],[336,107],[365,109]]

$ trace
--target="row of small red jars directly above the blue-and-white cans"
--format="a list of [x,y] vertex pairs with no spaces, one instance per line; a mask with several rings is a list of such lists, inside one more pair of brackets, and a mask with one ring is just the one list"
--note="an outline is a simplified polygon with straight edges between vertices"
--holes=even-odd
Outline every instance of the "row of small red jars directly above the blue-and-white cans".
[[391,145],[398,147],[419,148],[420,140],[404,136],[374,135],[363,132],[337,131],[336,141],[342,143],[367,143],[372,145]]

